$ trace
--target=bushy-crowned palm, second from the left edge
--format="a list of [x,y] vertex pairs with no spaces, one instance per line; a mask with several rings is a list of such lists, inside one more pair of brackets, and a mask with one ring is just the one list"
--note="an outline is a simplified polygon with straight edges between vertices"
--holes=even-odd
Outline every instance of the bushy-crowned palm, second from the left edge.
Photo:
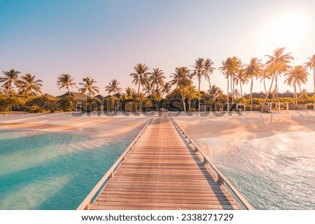
[[21,80],[18,81],[18,87],[22,94],[27,96],[31,94],[32,96],[38,96],[39,94],[43,94],[41,91],[41,87],[43,87],[42,80],[35,80],[36,75],[31,75],[29,73],[23,75]]

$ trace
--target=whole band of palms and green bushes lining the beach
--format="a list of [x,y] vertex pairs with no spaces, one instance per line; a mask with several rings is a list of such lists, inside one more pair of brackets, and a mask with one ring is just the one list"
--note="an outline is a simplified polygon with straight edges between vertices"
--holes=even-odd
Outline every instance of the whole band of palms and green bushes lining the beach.
[[[57,77],[58,89],[66,89],[66,94],[58,98],[43,94],[43,81],[37,79],[39,75],[26,73],[19,76],[20,71],[3,70],[0,77],[0,111],[22,110],[26,112],[55,112],[73,111],[78,107],[84,111],[92,110],[158,110],[167,107],[169,110],[204,111],[204,110],[235,110],[237,104],[246,106],[246,110],[260,110],[263,112],[266,103],[291,103],[295,109],[302,108],[304,103],[315,103],[315,94],[309,94],[303,85],[309,80],[309,73],[313,73],[315,92],[315,54],[307,58],[303,65],[293,65],[291,52],[284,47],[266,55],[265,63],[262,59],[251,58],[248,64],[243,64],[237,57],[228,57],[221,61],[219,72],[225,77],[226,92],[213,84],[214,61],[198,58],[190,66],[179,66],[174,73],[167,75],[161,68],[152,70],[146,64],[138,63],[130,73],[132,87],[123,89],[120,82],[113,79],[105,86],[109,96],[97,95],[101,89],[92,77],[84,77],[76,85],[69,74]],[[278,84],[288,84],[291,91],[279,93]],[[202,90],[202,82],[207,81],[208,88]],[[254,91],[255,80],[263,82],[264,91]],[[269,86],[266,81],[269,80]],[[197,87],[194,85],[197,82]],[[250,93],[244,94],[244,84],[250,85]],[[77,88],[77,91],[70,89]],[[77,94],[81,94],[80,97]],[[85,95],[86,94],[86,95]],[[113,96],[111,96],[113,94]],[[88,107],[88,109],[87,109]],[[305,108],[305,107],[304,107]]]

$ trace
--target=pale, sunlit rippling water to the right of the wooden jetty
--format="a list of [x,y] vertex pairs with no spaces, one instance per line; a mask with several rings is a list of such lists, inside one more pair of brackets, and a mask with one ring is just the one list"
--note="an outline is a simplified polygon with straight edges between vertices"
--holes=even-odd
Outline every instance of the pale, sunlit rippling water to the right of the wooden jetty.
[[315,133],[198,142],[255,209],[315,209]]

